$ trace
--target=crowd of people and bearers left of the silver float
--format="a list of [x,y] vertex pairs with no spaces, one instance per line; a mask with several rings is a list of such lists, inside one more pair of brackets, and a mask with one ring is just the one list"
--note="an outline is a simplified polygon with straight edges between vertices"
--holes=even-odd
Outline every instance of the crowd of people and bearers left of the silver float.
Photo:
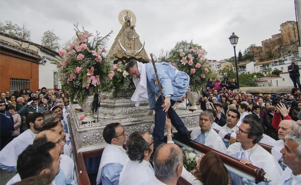
[[36,184],[40,175],[45,184],[75,184],[69,101],[57,86],[1,93],[0,168],[17,173],[8,185]]

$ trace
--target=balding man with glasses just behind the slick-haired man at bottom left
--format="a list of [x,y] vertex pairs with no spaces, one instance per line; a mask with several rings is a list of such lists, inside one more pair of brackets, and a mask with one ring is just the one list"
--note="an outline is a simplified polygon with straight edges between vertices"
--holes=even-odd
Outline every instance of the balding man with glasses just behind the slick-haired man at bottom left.
[[66,184],[66,181],[73,181],[73,171],[74,171],[74,162],[73,160],[64,155],[64,137],[61,137],[59,133],[55,130],[45,130],[41,131],[33,141],[33,143],[37,142],[53,142],[55,143],[55,148],[58,150],[60,157],[62,158],[60,161],[59,172],[55,176],[56,184]]

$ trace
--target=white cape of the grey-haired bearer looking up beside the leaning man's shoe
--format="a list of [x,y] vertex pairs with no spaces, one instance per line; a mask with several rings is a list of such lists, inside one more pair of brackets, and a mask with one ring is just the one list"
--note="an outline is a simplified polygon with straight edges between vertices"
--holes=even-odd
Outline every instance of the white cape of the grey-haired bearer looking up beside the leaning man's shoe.
[[[201,128],[196,128],[191,132],[191,139],[196,139],[201,134]],[[210,129],[208,133],[205,133],[205,143],[204,145],[217,150],[219,152],[225,153],[227,148],[223,142],[223,140],[220,138],[220,136],[214,131],[213,129]]]

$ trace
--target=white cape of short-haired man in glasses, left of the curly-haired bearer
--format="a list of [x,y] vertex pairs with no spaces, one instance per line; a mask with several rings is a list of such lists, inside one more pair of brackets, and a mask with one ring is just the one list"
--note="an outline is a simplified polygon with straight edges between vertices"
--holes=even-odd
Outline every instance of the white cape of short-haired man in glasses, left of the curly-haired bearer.
[[99,184],[101,181],[102,169],[104,166],[112,163],[124,166],[128,160],[129,157],[126,155],[126,150],[124,150],[122,146],[107,144],[101,155],[96,184]]

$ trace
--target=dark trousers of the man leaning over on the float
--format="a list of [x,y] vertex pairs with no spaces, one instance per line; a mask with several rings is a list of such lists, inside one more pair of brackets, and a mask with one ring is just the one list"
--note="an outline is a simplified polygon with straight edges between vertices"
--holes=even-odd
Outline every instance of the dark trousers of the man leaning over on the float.
[[[171,108],[173,105],[175,105],[175,101],[171,100],[170,103],[171,106],[169,107],[167,113],[169,119],[171,120],[171,124],[177,129],[179,134],[188,132],[181,118],[178,116],[175,110]],[[162,98],[161,96],[159,96],[158,100],[155,103],[155,128],[152,132],[155,146],[162,144],[164,139],[166,113],[163,111],[163,107],[161,107],[162,105]]]

